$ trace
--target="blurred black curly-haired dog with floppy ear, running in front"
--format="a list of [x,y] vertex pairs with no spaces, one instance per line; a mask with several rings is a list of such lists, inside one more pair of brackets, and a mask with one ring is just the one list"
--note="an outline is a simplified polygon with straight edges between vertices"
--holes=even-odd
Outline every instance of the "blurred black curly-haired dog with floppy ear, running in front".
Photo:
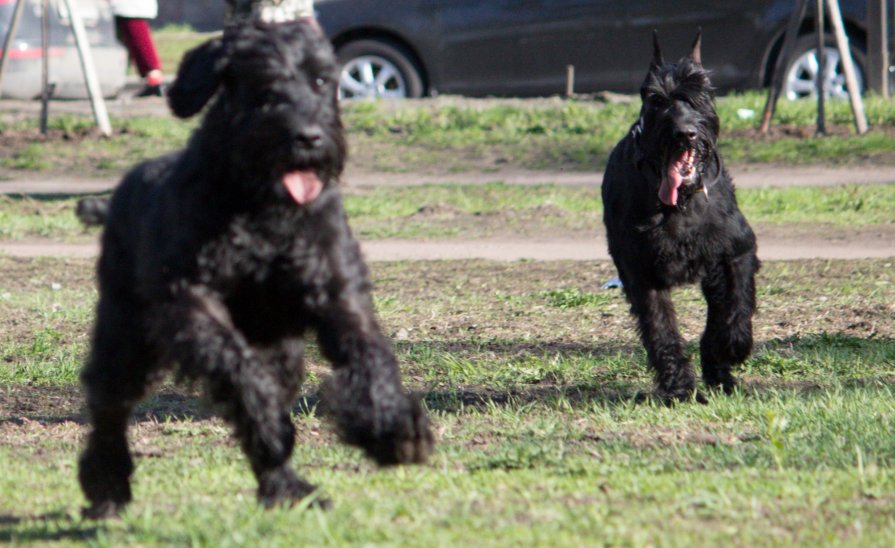
[[175,364],[234,425],[261,503],[309,495],[288,463],[308,330],[334,368],[325,392],[342,439],[381,464],[430,453],[335,187],[345,158],[337,79],[331,47],[306,23],[229,28],[185,56],[170,90],[182,117],[215,97],[186,149],[136,167],[108,207],[79,204],[83,220],[105,225],[82,374],[93,426],[79,471],[86,515],[130,501],[128,417]]

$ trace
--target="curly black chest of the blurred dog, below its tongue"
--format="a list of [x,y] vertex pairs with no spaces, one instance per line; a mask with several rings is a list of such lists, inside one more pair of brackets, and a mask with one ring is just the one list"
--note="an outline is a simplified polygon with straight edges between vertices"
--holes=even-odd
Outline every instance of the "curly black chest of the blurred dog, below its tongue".
[[338,194],[327,191],[319,200],[309,208],[283,203],[234,215],[196,253],[198,283],[219,293],[234,323],[254,339],[303,331],[338,298],[333,280],[368,284],[347,223],[334,222],[344,220]]

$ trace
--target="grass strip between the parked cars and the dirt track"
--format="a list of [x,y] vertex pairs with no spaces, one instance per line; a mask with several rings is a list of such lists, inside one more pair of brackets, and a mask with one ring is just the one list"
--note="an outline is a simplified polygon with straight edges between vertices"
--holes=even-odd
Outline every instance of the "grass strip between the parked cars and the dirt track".
[[[163,39],[165,35],[160,36]],[[830,127],[835,134],[826,138],[813,137],[810,101],[781,102],[778,120],[787,131],[766,138],[752,129],[754,118],[743,120],[737,114],[740,109],[760,114],[763,100],[759,92],[718,100],[724,128],[719,144],[728,163],[842,165],[895,159],[892,101],[867,98],[874,129],[864,136],[850,129],[847,103],[830,103]],[[447,97],[398,104],[346,103],[343,118],[352,166],[365,171],[597,171],[604,167],[612,147],[636,120],[638,111],[636,102]],[[0,158],[0,169],[11,173],[117,175],[140,160],[182,147],[195,122],[136,117],[113,119],[112,125],[116,133],[111,139],[96,139],[90,133],[89,117],[54,116],[52,127],[59,130],[54,135],[68,138],[47,140],[37,136],[33,121],[0,114],[0,131],[25,133]]]

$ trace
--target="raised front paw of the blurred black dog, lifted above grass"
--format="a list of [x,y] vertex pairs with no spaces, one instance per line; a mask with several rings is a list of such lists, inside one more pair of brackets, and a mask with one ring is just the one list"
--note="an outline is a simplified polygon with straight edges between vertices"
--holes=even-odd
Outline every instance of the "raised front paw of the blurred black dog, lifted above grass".
[[367,453],[381,466],[423,464],[432,454],[435,438],[429,419],[417,398],[410,400],[410,412],[389,436],[370,440]]

